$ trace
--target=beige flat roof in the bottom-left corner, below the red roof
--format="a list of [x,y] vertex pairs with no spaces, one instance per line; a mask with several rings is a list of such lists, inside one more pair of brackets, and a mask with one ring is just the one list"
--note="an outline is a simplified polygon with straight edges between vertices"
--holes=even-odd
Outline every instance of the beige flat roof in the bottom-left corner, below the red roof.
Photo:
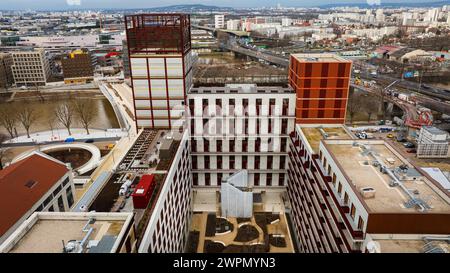
[[[34,213],[24,222],[1,246],[0,252],[7,253],[62,253],[63,243],[70,240],[81,241],[86,232],[82,229],[92,218],[93,223],[88,228],[93,232],[88,238],[94,246],[84,253],[98,252],[96,246],[101,247],[107,241],[109,247],[100,252],[115,252],[118,243],[125,234],[133,218],[132,213]],[[114,244],[111,244],[113,239]],[[102,241],[103,239],[103,241]],[[115,246],[115,247],[114,247]]]

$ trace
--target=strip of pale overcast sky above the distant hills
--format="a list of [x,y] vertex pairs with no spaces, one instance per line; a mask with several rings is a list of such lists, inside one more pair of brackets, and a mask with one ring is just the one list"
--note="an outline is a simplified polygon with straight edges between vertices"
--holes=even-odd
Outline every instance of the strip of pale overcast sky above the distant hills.
[[0,0],[0,10],[12,9],[66,9],[66,8],[152,8],[178,4],[205,4],[226,7],[301,7],[330,3],[401,3],[435,2],[436,0]]

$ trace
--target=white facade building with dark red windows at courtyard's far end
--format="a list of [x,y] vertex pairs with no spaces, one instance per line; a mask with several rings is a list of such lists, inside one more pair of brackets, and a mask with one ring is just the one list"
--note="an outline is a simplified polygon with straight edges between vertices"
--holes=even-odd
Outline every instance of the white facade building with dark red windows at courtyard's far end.
[[282,187],[295,123],[291,88],[228,85],[188,93],[194,186],[247,169],[250,187]]

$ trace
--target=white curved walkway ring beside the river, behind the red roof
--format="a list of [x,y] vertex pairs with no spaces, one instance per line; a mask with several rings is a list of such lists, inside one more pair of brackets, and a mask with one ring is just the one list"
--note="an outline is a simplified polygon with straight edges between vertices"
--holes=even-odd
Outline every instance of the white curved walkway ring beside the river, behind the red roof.
[[79,143],[79,142],[51,144],[51,145],[42,146],[38,150],[32,149],[32,150],[23,152],[20,155],[18,155],[16,158],[14,158],[12,163],[15,163],[19,160],[27,158],[28,156],[32,155],[36,151],[40,151],[43,153],[51,153],[51,152],[64,151],[64,150],[70,150],[70,149],[86,150],[86,151],[90,152],[90,154],[91,154],[91,158],[89,159],[88,162],[86,162],[82,166],[74,169],[74,171],[77,172],[78,174],[87,173],[90,170],[96,168],[98,166],[98,164],[100,163],[100,159],[101,159],[100,149],[93,144]]

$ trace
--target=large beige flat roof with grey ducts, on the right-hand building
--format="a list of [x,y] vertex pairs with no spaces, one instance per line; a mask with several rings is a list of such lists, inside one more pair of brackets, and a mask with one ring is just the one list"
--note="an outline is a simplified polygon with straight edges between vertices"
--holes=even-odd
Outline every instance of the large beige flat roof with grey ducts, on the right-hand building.
[[325,140],[324,148],[332,155],[341,172],[348,177],[348,182],[354,185],[356,191],[359,192],[365,187],[375,189],[375,197],[361,198],[372,212],[412,213],[416,212],[417,208],[405,206],[410,199],[406,192],[399,186],[391,187],[389,184],[392,178],[382,173],[380,167],[373,165],[376,160],[365,152],[364,147],[355,146],[354,143],[364,144],[391,170],[407,166],[411,179],[412,177],[416,179],[400,179],[400,181],[416,198],[420,198],[430,207],[425,213],[450,213],[449,198],[442,197],[445,193],[437,192],[437,187],[430,180],[422,176],[383,140]]

